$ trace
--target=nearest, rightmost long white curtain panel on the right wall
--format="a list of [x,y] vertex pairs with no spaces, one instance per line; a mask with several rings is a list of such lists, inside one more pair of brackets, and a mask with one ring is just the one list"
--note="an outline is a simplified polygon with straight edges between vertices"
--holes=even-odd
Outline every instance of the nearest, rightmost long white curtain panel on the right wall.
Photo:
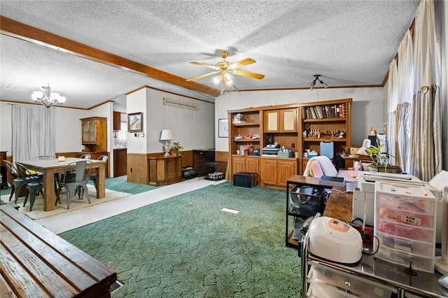
[[423,0],[415,18],[414,101],[410,135],[410,173],[428,181],[442,171],[440,64],[435,38],[434,3]]

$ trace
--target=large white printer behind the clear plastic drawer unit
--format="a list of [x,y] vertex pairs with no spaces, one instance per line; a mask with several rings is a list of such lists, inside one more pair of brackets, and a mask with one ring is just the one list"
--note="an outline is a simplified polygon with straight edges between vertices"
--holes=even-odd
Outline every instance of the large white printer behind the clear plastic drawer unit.
[[353,190],[353,218],[364,220],[365,225],[374,225],[374,199],[375,182],[384,181],[409,185],[421,185],[428,187],[437,199],[436,241],[441,242],[442,236],[442,192],[425,181],[412,175],[397,173],[372,173],[370,171],[358,171],[358,187]]

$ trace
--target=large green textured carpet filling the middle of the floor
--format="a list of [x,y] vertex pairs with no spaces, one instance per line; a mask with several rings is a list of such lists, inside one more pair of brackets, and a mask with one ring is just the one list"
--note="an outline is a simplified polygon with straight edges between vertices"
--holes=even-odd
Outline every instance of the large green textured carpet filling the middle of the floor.
[[114,298],[300,297],[285,200],[284,190],[225,182],[59,236],[117,271]]

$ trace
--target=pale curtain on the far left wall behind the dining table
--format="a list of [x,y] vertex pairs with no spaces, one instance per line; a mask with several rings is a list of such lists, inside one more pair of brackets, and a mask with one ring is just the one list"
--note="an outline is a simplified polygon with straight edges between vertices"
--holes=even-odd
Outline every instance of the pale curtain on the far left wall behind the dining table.
[[13,160],[55,155],[54,108],[13,104]]

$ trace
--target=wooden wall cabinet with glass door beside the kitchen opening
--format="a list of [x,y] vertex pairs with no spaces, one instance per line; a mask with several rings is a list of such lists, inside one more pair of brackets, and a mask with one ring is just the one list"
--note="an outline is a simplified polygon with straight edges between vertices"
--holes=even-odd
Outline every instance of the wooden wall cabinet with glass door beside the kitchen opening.
[[81,143],[90,152],[107,151],[107,118],[91,117],[81,120]]

